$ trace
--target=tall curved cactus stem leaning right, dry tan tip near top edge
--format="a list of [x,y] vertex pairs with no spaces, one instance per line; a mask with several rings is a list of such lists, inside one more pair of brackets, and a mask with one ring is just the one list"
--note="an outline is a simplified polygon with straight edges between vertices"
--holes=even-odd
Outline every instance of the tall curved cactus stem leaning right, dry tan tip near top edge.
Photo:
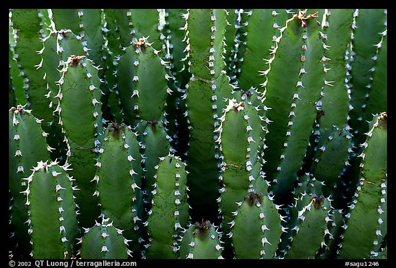
[[[267,80],[263,83],[263,102],[272,108],[267,111],[267,118],[274,121],[268,125],[269,133],[265,136],[268,147],[264,150],[263,171],[268,180],[276,179],[273,191],[278,204],[290,202],[289,193],[303,164],[311,126],[316,119],[318,89],[323,85],[323,80],[318,79],[322,76],[322,43],[317,15],[305,16],[306,12],[299,11],[281,29],[274,57],[269,60]],[[285,68],[294,75],[281,75]],[[279,94],[284,97],[279,98]],[[283,138],[279,137],[281,133]]]

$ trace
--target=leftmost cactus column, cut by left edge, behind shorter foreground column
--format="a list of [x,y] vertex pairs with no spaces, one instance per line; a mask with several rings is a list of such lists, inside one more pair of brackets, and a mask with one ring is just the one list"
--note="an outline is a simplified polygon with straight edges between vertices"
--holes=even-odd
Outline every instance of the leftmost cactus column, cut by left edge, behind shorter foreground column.
[[[25,105],[26,106],[26,105]],[[8,116],[8,183],[12,194],[12,217],[11,226],[14,245],[12,249],[16,256],[18,252],[30,252],[31,245],[28,243],[28,207],[26,198],[21,194],[25,191],[25,181],[30,170],[37,162],[50,159],[52,148],[46,143],[46,132],[43,132],[41,123],[32,114],[32,110],[18,105],[9,110]]]

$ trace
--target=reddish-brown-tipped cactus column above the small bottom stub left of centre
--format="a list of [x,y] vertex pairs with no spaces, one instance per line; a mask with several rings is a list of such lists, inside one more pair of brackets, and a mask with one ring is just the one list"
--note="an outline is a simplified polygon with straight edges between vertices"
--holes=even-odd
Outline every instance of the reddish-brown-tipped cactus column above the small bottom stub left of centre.
[[104,215],[110,217],[114,226],[124,231],[124,237],[133,240],[133,245],[137,246],[140,240],[137,210],[144,208],[142,194],[137,193],[141,182],[135,181],[135,175],[142,173],[137,161],[139,145],[136,136],[124,123],[109,123],[101,134],[100,143],[96,175],[92,179],[97,184],[94,195],[99,197]]

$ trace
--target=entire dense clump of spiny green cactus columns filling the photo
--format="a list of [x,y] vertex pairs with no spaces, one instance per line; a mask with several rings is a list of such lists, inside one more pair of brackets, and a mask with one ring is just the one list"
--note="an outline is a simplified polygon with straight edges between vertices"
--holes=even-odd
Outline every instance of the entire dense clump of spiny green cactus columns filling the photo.
[[387,258],[386,9],[8,15],[10,258]]

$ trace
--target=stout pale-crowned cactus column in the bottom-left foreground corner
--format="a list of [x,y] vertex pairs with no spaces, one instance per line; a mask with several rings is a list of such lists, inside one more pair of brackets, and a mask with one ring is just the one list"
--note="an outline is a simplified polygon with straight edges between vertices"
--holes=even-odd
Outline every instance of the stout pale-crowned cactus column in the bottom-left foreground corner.
[[72,258],[78,235],[74,180],[68,175],[69,164],[59,166],[37,162],[23,191],[30,215],[28,220],[34,258]]

